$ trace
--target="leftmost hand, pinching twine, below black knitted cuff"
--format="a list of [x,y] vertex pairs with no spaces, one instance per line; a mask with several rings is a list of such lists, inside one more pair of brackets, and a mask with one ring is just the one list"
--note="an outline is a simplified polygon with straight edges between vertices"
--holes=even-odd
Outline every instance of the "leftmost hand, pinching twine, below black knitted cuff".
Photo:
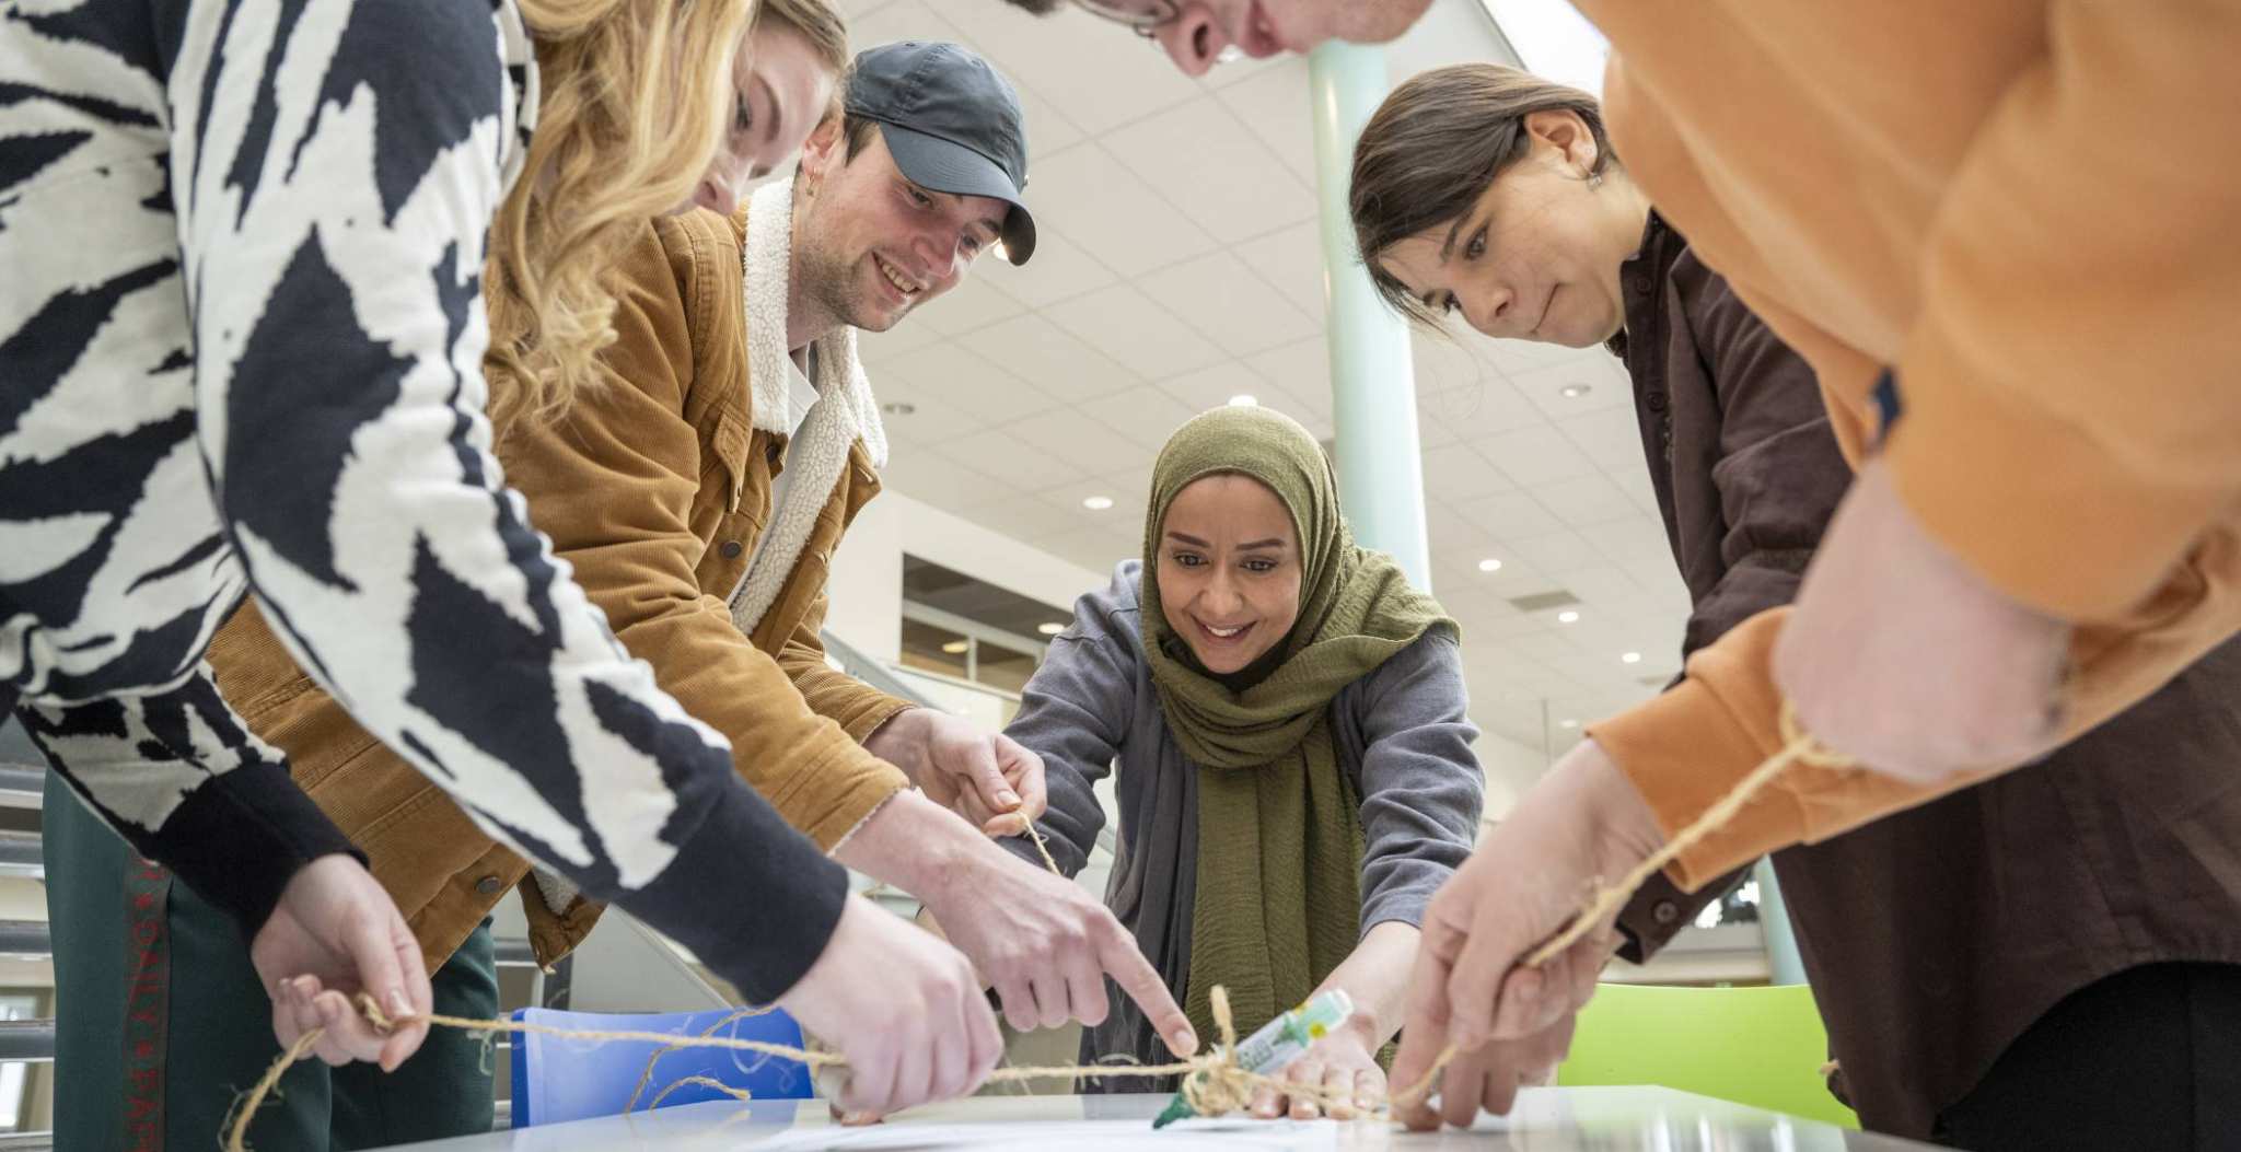
[[[428,1038],[428,1022],[415,1020],[435,1006],[419,941],[388,890],[350,856],[320,856],[289,879],[249,941],[249,964],[271,991],[282,1049],[325,1029],[311,1049],[320,1060],[379,1060],[381,1071],[397,1071]],[[412,1022],[383,1033],[359,1015],[359,993],[390,1020]]]

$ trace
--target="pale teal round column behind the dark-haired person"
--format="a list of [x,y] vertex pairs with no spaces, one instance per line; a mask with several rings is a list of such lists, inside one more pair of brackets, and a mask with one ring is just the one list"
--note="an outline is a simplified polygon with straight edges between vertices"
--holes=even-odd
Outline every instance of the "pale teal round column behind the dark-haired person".
[[1378,300],[1354,251],[1347,179],[1354,139],[1385,101],[1385,52],[1331,40],[1307,58],[1315,117],[1315,197],[1322,208],[1322,298],[1338,424],[1338,500],[1363,547],[1387,551],[1410,583],[1432,589],[1423,529],[1423,450],[1407,320]]

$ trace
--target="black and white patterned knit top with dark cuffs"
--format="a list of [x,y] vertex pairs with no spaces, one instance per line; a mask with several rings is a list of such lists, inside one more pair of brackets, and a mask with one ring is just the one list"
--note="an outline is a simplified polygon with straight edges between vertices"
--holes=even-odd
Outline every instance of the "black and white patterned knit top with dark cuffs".
[[0,704],[253,930],[341,849],[202,650],[258,596],[475,818],[751,997],[845,874],[607,632],[482,417],[511,0],[0,0]]

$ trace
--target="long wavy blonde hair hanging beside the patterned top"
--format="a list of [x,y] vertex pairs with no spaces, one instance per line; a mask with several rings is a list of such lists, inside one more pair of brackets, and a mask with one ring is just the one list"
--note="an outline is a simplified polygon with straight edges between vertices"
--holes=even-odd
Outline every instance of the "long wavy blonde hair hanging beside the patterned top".
[[[813,2],[813,0],[807,0]],[[755,0],[520,0],[542,101],[491,222],[491,408],[551,417],[614,341],[610,273],[645,220],[692,195],[731,121]]]

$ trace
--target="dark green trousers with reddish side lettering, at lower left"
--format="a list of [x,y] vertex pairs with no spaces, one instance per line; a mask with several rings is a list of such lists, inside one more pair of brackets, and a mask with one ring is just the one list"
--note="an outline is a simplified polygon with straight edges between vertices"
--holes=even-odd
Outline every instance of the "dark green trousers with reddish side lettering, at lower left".
[[[206,1152],[235,1096],[280,1053],[249,944],[217,908],[141,861],[47,775],[47,917],[54,932],[54,1145]],[[498,1015],[484,923],[435,973],[435,1011]],[[249,1141],[345,1152],[491,1130],[484,1042],[435,1029],[394,1074],[316,1058],[280,1078]]]

